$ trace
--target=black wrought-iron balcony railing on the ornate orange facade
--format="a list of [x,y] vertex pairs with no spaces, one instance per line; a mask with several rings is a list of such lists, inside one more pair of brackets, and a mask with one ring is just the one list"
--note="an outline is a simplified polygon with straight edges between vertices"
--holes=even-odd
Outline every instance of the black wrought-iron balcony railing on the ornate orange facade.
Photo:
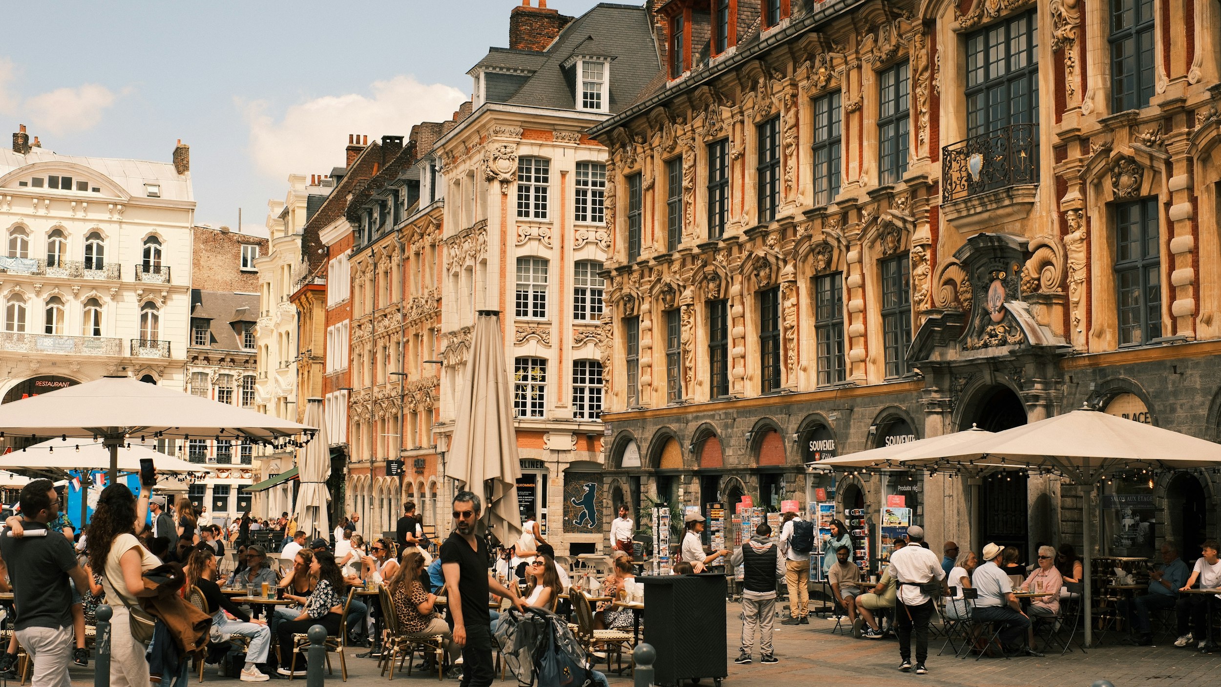
[[1039,130],[1015,123],[941,148],[946,203],[998,188],[1038,183]]

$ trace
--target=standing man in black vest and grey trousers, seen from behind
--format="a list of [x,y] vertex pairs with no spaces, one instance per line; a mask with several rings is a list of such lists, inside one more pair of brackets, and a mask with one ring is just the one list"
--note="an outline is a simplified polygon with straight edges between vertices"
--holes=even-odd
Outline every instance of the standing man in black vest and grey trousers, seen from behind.
[[730,562],[742,566],[742,648],[736,664],[751,663],[755,631],[759,634],[759,663],[778,663],[772,650],[772,626],[775,622],[775,581],[785,575],[780,548],[772,539],[766,522],[755,528],[755,537],[734,551]]

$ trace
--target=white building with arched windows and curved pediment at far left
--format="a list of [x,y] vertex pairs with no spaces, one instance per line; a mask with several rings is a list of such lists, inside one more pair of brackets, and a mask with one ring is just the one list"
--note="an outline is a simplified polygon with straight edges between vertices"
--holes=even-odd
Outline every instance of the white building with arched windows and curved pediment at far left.
[[172,163],[0,150],[0,394],[126,374],[183,389],[189,149]]

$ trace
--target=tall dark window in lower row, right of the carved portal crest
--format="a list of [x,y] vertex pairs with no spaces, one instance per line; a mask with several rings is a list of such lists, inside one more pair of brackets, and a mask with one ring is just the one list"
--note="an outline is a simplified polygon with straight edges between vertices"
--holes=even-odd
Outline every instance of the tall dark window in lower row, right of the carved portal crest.
[[1148,344],[1161,336],[1158,199],[1116,205],[1115,230],[1120,344]]

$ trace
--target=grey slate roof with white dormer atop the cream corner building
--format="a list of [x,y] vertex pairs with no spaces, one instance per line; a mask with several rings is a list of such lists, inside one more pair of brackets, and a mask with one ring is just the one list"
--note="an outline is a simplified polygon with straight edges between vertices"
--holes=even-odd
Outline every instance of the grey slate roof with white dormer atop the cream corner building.
[[[490,103],[573,110],[576,108],[574,66],[565,68],[563,64],[574,55],[613,57],[610,112],[631,104],[662,67],[648,10],[602,2],[569,22],[547,50],[492,48],[471,73],[492,70],[485,72],[488,79],[485,93]],[[497,68],[532,73],[514,78],[497,73]]]

